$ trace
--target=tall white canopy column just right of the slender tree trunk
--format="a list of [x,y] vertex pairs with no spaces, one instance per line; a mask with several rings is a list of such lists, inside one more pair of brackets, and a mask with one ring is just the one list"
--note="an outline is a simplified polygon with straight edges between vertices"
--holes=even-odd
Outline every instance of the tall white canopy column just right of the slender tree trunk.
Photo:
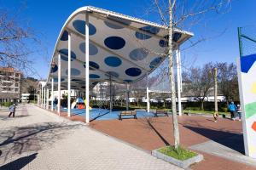
[[178,115],[182,116],[182,105],[181,105],[181,62],[180,62],[180,50],[176,51],[176,65],[177,65],[177,105]]

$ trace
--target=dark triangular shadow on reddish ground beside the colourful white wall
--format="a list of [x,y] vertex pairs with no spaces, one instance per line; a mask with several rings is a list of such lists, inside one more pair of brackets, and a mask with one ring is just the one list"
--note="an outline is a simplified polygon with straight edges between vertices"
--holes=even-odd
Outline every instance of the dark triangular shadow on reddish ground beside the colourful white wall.
[[211,139],[214,142],[217,142],[218,144],[223,144],[224,146],[229,147],[232,150],[236,150],[241,154],[245,153],[243,145],[243,136],[240,133],[230,133],[203,127],[183,127],[186,127],[194,131],[195,133],[199,133],[202,136],[205,136],[207,139]]

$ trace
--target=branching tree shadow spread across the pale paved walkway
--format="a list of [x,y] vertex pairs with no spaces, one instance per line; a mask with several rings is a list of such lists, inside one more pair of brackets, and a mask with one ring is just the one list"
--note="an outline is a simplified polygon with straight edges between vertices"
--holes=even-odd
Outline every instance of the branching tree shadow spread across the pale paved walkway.
[[3,152],[5,160],[12,155],[25,152],[35,152],[44,146],[54,144],[71,133],[72,129],[80,127],[79,124],[67,124],[65,122],[46,122],[33,124],[27,127],[10,127],[0,130],[0,148],[8,148]]

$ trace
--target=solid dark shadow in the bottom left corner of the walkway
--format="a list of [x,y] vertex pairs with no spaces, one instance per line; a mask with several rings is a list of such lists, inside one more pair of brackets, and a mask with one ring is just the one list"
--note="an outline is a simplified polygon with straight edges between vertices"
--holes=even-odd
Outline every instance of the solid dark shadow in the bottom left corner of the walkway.
[[32,154],[30,156],[20,157],[15,161],[11,161],[3,165],[2,167],[0,167],[0,169],[19,170],[22,167],[25,167],[29,162],[33,161],[37,157],[37,155],[38,153]]

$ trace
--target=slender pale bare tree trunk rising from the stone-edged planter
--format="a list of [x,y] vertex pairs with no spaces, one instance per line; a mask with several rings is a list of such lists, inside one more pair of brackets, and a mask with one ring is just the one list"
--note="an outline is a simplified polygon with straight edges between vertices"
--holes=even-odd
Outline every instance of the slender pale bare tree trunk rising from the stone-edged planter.
[[176,89],[175,89],[175,79],[173,71],[173,47],[172,47],[172,33],[173,33],[173,18],[172,18],[172,2],[169,0],[169,41],[168,41],[168,59],[169,59],[169,78],[171,85],[172,94],[172,123],[173,123],[173,137],[174,137],[174,147],[175,149],[179,146],[179,132],[177,124],[177,110],[176,110]]

